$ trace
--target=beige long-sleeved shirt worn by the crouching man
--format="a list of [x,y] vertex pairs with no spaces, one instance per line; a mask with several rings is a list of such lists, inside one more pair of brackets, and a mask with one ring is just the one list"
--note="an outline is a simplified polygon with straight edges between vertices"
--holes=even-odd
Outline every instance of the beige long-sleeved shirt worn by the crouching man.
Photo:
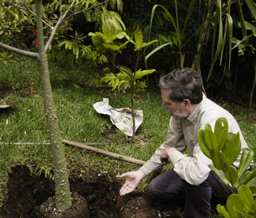
[[[243,149],[248,149],[243,134],[234,117],[204,95],[203,100],[196,105],[195,110],[189,115],[188,119],[179,120],[174,117],[170,119],[166,142],[156,149],[155,154],[140,170],[145,175],[149,175],[161,168],[164,165],[160,161],[161,151],[166,147],[175,147],[178,151],[173,152],[170,156],[173,170],[189,184],[201,184],[211,171],[208,165],[212,164],[212,161],[202,153],[199,147],[198,130],[204,129],[205,124],[211,124],[212,131],[214,131],[215,122],[220,117],[227,118],[229,132],[239,132],[240,134],[241,153],[234,163],[234,166],[238,167]],[[188,149],[189,157],[182,154],[186,149]]]

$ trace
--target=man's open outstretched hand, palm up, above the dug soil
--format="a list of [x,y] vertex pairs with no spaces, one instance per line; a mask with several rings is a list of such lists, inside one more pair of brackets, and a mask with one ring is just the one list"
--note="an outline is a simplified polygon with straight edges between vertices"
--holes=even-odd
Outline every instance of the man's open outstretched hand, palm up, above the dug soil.
[[140,184],[141,180],[145,177],[145,173],[141,170],[132,171],[128,173],[124,173],[119,176],[119,178],[127,177],[127,181],[120,189],[119,194],[124,196],[125,194],[131,193],[138,185]]

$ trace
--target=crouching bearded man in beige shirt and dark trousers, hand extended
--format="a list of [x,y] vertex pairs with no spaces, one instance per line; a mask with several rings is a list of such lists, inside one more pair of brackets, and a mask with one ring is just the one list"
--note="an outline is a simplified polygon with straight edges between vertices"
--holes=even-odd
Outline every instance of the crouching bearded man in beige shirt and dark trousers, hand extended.
[[[163,108],[172,114],[167,140],[140,170],[120,175],[127,177],[120,195],[131,193],[144,177],[172,163],[172,170],[150,182],[148,192],[158,200],[184,205],[183,217],[210,217],[211,201],[227,199],[232,190],[208,167],[212,161],[200,150],[198,130],[205,124],[214,129],[216,120],[226,117],[228,131],[240,134],[241,154],[248,146],[234,117],[202,93],[200,75],[195,70],[176,69],[160,79],[159,87]],[[182,154],[186,149],[189,157]],[[236,167],[241,154],[234,163]]]

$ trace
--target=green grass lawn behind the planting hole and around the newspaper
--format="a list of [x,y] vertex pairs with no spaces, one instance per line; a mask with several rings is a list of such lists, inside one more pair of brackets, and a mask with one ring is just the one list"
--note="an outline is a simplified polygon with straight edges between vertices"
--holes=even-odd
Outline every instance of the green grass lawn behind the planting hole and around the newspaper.
[[[24,69],[28,70],[33,60],[22,59]],[[3,68],[2,68],[3,66]],[[86,85],[85,71],[68,66],[50,64],[52,91],[56,105],[61,136],[74,142],[113,142],[111,145],[95,145],[100,149],[109,150],[136,159],[147,161],[159,145],[165,140],[170,114],[161,106],[160,92],[157,88],[148,89],[150,99],[147,104],[136,104],[135,108],[143,110],[144,120],[136,132],[136,143],[127,140],[127,136],[116,129],[109,116],[97,113],[93,104],[109,98],[113,108],[131,108],[130,98],[123,93],[109,92],[100,87]],[[24,70],[24,71],[26,71]],[[19,85],[19,63],[5,66],[1,63],[0,85]],[[0,142],[47,142],[47,128],[44,117],[38,66],[35,64],[24,76],[24,85],[30,82],[36,94],[21,98],[19,95],[0,99],[0,103],[19,105],[0,112]],[[136,101],[147,101],[147,94],[142,94]],[[255,150],[256,112],[252,110],[254,122],[246,122],[246,108],[238,105],[225,105],[234,116],[244,134],[248,145]],[[108,133],[111,131],[111,134]],[[65,145],[68,169],[80,170],[99,168],[101,171],[114,171],[120,175],[126,171],[137,170],[140,166],[111,157],[95,154],[87,150]],[[7,173],[13,166],[26,164],[35,175],[43,174],[52,178],[51,152],[49,145],[1,145],[0,147],[0,202],[6,194]],[[170,168],[167,166],[164,170]],[[138,191],[148,187],[147,178],[141,182]],[[1,203],[0,203],[1,205]]]

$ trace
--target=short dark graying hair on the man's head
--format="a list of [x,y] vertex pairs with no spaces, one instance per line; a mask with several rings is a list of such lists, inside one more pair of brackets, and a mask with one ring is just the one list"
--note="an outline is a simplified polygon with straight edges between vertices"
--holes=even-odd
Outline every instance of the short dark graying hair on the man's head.
[[195,105],[203,99],[201,76],[191,68],[180,68],[162,76],[160,89],[170,90],[169,99],[177,103],[189,99]]

